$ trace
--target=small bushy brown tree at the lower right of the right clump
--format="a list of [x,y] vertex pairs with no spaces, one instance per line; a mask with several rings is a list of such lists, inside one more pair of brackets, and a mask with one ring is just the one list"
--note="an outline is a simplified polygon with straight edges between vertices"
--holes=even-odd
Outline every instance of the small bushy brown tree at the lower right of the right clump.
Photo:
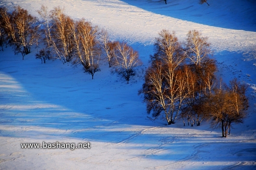
[[220,85],[209,98],[209,116],[213,118],[212,125],[221,125],[222,137],[227,137],[232,125],[242,123],[247,116],[248,103],[244,102],[239,86],[236,80],[232,80],[230,87]]

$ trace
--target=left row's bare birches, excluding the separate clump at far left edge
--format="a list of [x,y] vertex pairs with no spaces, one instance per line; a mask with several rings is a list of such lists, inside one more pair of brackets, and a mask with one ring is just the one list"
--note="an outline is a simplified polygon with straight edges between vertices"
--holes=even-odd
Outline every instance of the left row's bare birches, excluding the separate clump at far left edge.
[[84,72],[92,79],[100,71],[101,55],[127,83],[135,75],[135,67],[141,65],[137,51],[131,46],[126,42],[110,41],[107,31],[100,31],[85,19],[73,20],[60,7],[48,12],[42,6],[38,13],[44,23],[44,42],[52,56],[63,62],[83,65]]

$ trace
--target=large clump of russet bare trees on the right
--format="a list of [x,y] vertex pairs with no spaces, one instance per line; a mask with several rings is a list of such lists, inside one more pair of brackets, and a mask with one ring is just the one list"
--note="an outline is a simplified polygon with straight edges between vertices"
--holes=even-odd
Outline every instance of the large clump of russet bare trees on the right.
[[236,79],[225,88],[215,77],[216,64],[207,37],[189,31],[186,43],[178,42],[175,32],[160,32],[154,44],[151,66],[145,73],[143,94],[148,114],[162,115],[167,124],[182,118],[192,126],[203,119],[221,125],[223,136],[233,123],[242,122],[248,106],[247,85]]

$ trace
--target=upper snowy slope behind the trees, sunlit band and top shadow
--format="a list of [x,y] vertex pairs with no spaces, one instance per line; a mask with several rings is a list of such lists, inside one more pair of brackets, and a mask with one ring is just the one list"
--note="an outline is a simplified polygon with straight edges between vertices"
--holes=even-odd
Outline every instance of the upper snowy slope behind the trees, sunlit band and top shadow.
[[[41,5],[48,6],[49,10],[61,6],[74,19],[84,17],[105,28],[113,39],[144,45],[152,44],[162,29],[176,31],[180,40],[185,40],[189,30],[199,30],[209,37],[217,51],[247,51],[255,45],[256,3],[253,0],[208,2],[210,6],[199,5],[198,0],[182,3],[170,0],[167,5],[162,0],[3,0],[0,5],[9,8],[19,5],[35,16]],[[202,15],[202,19],[198,20],[195,15]],[[218,24],[213,24],[215,22]],[[225,26],[227,24],[229,26]]]

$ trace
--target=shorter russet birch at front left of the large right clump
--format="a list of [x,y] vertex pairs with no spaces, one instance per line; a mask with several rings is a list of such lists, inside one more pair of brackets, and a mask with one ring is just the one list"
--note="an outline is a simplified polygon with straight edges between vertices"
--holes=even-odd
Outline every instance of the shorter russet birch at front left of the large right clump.
[[148,114],[153,117],[164,114],[167,124],[175,123],[183,102],[189,96],[188,84],[182,67],[174,71],[160,60],[152,62],[145,74],[145,83],[139,94],[144,95]]

